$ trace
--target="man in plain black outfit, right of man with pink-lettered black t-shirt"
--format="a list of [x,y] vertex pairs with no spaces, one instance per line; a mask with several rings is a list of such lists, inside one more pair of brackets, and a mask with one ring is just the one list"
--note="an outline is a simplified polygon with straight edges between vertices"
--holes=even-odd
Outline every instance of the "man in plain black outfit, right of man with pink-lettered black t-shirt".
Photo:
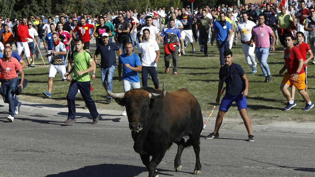
[[123,49],[125,49],[125,45],[127,42],[130,42],[129,38],[129,22],[123,19],[123,14],[118,14],[119,22],[116,24],[114,31],[118,33],[116,44],[120,47],[123,44]]

